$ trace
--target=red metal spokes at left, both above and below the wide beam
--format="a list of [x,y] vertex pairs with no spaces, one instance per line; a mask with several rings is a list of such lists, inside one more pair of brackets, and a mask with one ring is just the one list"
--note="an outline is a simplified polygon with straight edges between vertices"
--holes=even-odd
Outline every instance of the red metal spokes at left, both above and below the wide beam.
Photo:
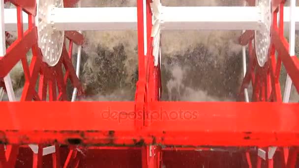
[[[79,93],[82,91],[79,79],[76,76],[74,67],[71,62],[72,52],[67,52],[65,45],[63,47],[62,56],[59,63],[54,67],[49,67],[46,63],[42,62],[42,56],[40,50],[37,47],[37,29],[34,23],[34,16],[36,15],[36,3],[35,0],[10,0],[17,6],[17,19],[18,19],[18,39],[13,43],[7,43],[9,46],[6,50],[6,55],[0,59],[0,78],[3,78],[8,72],[16,65],[18,61],[22,61],[25,85],[21,101],[45,101],[47,98],[47,90],[49,91],[49,101],[67,100],[66,96],[66,81],[71,80],[71,84],[77,87]],[[68,2],[68,5],[72,5]],[[29,29],[23,32],[23,16],[22,11],[29,14]],[[6,32],[6,36],[9,34]],[[68,31],[66,37],[70,40],[70,44],[74,41],[78,45],[83,44],[83,36],[77,32]],[[28,65],[26,53],[32,49],[32,59],[30,65]],[[67,74],[63,76],[62,66],[65,67]],[[35,85],[39,77],[39,89],[35,90]],[[47,88],[48,87],[48,88]],[[57,87],[58,93],[57,96]],[[14,122],[15,123],[15,122]],[[18,125],[18,124],[17,124]],[[2,141],[1,141],[2,142]],[[60,151],[60,147],[57,143],[56,151]],[[39,144],[37,154],[31,154],[31,167],[41,168],[43,167],[42,147],[44,145]],[[0,167],[1,168],[13,168],[15,167],[18,153],[21,148],[18,144],[6,145],[7,149],[4,153],[4,145],[0,145]],[[4,156],[5,155],[5,156]],[[59,152],[53,153],[52,165],[55,168],[60,168],[60,154]],[[26,155],[30,157],[30,154]],[[77,159],[78,160],[78,159]],[[24,165],[23,165],[24,166]],[[18,166],[17,166],[18,167]]]

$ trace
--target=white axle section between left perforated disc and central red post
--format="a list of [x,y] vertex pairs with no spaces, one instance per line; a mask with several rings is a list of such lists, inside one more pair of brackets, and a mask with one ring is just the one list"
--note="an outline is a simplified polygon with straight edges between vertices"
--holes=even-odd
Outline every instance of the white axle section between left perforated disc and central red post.
[[[63,30],[137,29],[136,7],[56,8],[53,21]],[[67,17],[66,17],[67,16]],[[92,17],[90,17],[92,16]],[[67,24],[65,24],[67,22]]]

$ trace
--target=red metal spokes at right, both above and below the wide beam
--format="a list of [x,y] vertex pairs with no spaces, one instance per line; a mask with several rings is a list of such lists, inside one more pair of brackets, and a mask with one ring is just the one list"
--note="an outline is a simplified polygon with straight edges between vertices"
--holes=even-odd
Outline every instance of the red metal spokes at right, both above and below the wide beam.
[[[249,5],[254,5],[254,0],[247,0]],[[240,91],[240,100],[244,100],[244,88],[247,88],[251,82],[253,92],[253,102],[282,102],[281,88],[279,83],[279,75],[281,70],[281,63],[284,64],[287,73],[291,77],[294,86],[299,91],[299,60],[297,56],[289,55],[289,44],[283,34],[283,6],[284,0],[272,1],[272,26],[271,26],[271,45],[269,52],[269,60],[264,67],[260,67],[257,64],[255,55],[255,48],[252,46],[254,40],[254,31],[247,30],[239,38],[241,45],[248,44],[249,51],[249,64],[245,77],[243,79]],[[277,13],[279,12],[279,26],[277,25]],[[278,56],[276,60],[275,51]],[[298,105],[298,104],[297,104]],[[285,112],[285,110],[283,110]],[[276,122],[272,122],[276,123]],[[280,150],[281,157],[268,158],[268,148],[264,148],[266,151],[266,165],[269,168],[273,168],[273,159],[276,159],[282,163],[281,168],[288,167],[294,168],[297,158],[297,149],[278,148]],[[276,154],[277,155],[277,154]],[[250,161],[250,158],[249,160]],[[249,164],[249,163],[248,163]],[[262,159],[257,157],[257,167],[260,168]],[[250,164],[249,164],[250,165]]]

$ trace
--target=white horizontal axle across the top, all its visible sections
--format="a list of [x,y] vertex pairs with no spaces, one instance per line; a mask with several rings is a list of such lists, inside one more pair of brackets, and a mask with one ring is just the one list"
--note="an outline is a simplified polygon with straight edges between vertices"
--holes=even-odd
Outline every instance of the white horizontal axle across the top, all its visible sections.
[[[284,10],[284,21],[288,23],[290,7],[284,7]],[[5,9],[6,31],[17,30],[16,13],[16,9]],[[136,13],[136,7],[55,8],[51,20],[59,30],[136,30]],[[299,29],[299,7],[294,13],[296,29]],[[260,17],[259,8],[250,6],[163,7],[161,25],[165,30],[254,30],[260,26]],[[25,12],[23,19],[27,29]]]

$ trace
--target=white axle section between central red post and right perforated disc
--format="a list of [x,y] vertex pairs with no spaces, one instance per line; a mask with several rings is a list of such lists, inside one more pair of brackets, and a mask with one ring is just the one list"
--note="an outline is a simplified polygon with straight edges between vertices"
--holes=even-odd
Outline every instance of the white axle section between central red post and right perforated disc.
[[[204,17],[203,17],[204,16]],[[258,7],[163,7],[163,29],[243,30],[259,27]]]

